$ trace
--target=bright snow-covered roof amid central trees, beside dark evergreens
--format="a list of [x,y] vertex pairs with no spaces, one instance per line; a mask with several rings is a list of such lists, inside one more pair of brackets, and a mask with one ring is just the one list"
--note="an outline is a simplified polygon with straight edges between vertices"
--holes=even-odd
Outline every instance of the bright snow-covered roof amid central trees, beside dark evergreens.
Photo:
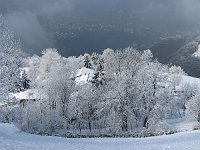
[[92,77],[94,77],[94,70],[85,67],[78,69],[75,79],[76,85],[87,84],[92,80]]

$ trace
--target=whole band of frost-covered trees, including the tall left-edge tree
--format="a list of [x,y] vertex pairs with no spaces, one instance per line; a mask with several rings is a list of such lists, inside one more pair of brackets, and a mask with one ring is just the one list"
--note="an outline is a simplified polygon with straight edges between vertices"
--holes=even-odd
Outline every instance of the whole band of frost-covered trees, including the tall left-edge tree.
[[[0,120],[17,123],[24,131],[67,137],[157,135],[171,131],[164,120],[181,116],[194,95],[177,94],[184,71],[154,60],[150,50],[106,49],[65,58],[46,49],[41,57],[23,59],[2,16],[0,29],[1,99],[8,104],[9,93],[29,91],[20,103],[2,106]],[[94,74],[80,84],[78,69]],[[200,120],[197,111],[187,112]]]

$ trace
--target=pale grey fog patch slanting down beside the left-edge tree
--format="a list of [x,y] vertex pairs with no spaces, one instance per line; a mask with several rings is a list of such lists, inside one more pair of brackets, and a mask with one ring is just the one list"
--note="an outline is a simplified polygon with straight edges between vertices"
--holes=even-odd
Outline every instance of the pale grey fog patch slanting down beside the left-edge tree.
[[32,51],[38,53],[45,47],[54,47],[37,16],[33,13],[29,11],[8,13],[6,19],[29,53],[32,53]]

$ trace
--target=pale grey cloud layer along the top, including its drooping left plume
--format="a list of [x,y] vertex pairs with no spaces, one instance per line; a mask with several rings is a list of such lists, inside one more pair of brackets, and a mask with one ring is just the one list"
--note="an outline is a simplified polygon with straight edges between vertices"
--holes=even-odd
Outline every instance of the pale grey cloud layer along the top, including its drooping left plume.
[[0,0],[0,13],[6,16],[24,44],[34,47],[36,53],[45,47],[54,47],[54,42],[38,20],[39,16],[62,14],[104,21],[117,20],[119,14],[123,18],[135,19],[130,17],[133,13],[141,23],[170,29],[192,28],[199,23],[199,11],[199,0]]

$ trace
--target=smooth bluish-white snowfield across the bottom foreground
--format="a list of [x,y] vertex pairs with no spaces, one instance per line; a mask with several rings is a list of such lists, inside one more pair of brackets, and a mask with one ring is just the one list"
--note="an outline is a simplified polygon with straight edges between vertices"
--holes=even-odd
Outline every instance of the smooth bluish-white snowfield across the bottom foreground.
[[0,124],[0,150],[200,150],[200,131],[141,139],[65,139],[31,135]]

